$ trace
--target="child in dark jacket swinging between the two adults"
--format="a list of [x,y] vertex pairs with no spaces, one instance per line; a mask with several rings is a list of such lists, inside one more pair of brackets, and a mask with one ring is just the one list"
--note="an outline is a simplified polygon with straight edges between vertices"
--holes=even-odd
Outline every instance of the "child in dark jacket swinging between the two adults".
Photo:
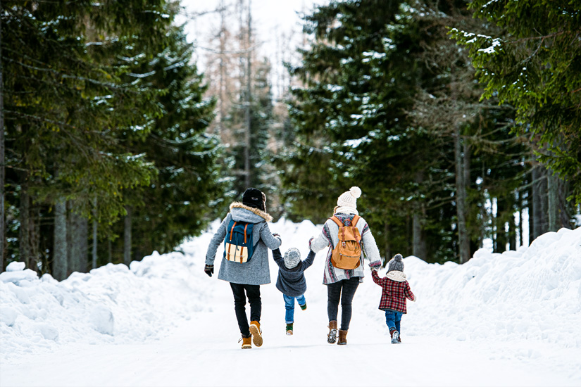
[[315,253],[313,250],[308,251],[306,260],[301,261],[301,252],[297,248],[289,248],[283,258],[280,255],[280,249],[273,250],[273,258],[278,265],[278,278],[276,288],[282,292],[282,298],[285,299],[285,308],[287,313],[285,320],[287,322],[287,335],[292,335],[292,325],[294,323],[294,300],[301,307],[306,309],[305,291],[306,280],[304,271],[307,267],[313,265]]

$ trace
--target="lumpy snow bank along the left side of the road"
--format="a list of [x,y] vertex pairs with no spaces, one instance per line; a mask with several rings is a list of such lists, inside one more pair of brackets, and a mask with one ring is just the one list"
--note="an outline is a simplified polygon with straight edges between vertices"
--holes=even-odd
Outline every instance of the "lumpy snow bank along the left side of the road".
[[130,268],[109,264],[61,282],[19,264],[0,274],[0,360],[70,342],[159,338],[208,307],[205,274],[182,253],[154,253]]

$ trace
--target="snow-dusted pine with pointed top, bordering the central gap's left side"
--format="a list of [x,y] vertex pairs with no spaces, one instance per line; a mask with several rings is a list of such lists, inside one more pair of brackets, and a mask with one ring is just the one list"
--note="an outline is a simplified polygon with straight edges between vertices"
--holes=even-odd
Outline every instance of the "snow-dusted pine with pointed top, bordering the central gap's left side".
[[204,134],[213,119],[215,101],[204,99],[206,87],[194,64],[193,46],[183,27],[171,27],[169,44],[152,61],[149,82],[163,89],[156,118],[144,141],[130,141],[130,151],[151,160],[158,175],[146,188],[131,193],[132,257],[175,248],[219,216],[225,186],[220,183],[215,137]]

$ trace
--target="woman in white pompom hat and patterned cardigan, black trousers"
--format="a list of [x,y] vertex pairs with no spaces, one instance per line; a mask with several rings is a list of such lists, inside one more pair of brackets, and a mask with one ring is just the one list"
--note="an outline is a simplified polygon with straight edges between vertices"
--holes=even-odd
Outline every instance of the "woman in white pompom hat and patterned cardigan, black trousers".
[[[375,243],[366,220],[360,217],[357,211],[357,198],[360,196],[361,189],[358,186],[352,186],[349,191],[341,194],[337,198],[337,207],[335,207],[333,216],[325,222],[319,236],[311,241],[311,250],[315,253],[330,246],[325,261],[323,284],[327,285],[327,317],[329,318],[327,342],[331,344],[336,341],[339,345],[347,343],[346,336],[352,313],[351,303],[357,287],[364,277],[363,255],[368,258],[370,268],[381,267],[381,256],[377,243]],[[340,265],[335,260],[337,255],[334,255],[334,250],[336,254],[337,248],[341,245],[345,246],[343,243],[345,230],[353,232],[361,247],[361,255],[359,255],[358,260],[355,258],[354,265]],[[339,231],[343,235],[339,235]],[[339,340],[337,340],[339,300],[341,301],[341,326],[339,327]]]

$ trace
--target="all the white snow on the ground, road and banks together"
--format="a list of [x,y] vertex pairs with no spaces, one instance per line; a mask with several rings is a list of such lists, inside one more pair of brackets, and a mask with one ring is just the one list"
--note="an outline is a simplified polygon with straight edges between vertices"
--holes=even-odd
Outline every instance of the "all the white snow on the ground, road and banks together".
[[[271,261],[273,284],[261,287],[265,343],[242,351],[230,286],[203,272],[218,224],[182,252],[129,269],[107,265],[58,282],[11,264],[0,274],[0,386],[581,384],[581,228],[518,251],[478,250],[464,265],[405,258],[418,301],[408,302],[401,345],[389,343],[368,271],[349,344],[326,343],[324,252],[306,271],[308,308],[296,308],[295,334],[286,336]],[[320,230],[285,220],[270,228],[282,252],[297,247],[303,258]]]

